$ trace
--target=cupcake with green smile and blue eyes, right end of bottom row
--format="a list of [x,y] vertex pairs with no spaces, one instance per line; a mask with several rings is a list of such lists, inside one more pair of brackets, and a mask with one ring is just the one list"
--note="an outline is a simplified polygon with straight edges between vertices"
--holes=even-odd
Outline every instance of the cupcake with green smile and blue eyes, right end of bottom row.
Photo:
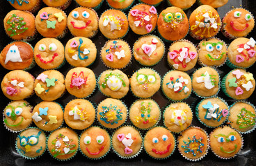
[[233,158],[243,147],[243,138],[240,134],[227,126],[214,129],[209,138],[211,151],[219,158]]

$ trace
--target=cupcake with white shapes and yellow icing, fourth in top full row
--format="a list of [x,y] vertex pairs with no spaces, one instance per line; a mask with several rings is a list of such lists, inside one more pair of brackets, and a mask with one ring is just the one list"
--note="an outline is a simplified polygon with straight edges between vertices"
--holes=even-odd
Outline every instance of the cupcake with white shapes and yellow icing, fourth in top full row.
[[106,10],[99,18],[99,30],[108,39],[125,37],[129,30],[127,16],[120,10]]

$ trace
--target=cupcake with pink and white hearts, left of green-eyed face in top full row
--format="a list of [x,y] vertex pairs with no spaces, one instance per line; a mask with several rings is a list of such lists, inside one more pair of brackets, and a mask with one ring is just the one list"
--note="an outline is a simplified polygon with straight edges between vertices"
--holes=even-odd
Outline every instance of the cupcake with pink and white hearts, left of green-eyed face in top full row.
[[128,22],[131,30],[138,35],[151,33],[157,26],[157,9],[138,4],[129,11]]

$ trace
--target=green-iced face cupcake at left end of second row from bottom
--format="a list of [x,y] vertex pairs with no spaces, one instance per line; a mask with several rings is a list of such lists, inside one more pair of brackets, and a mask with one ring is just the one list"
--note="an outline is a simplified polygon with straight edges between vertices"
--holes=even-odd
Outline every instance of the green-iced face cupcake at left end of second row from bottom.
[[33,107],[25,100],[10,102],[3,109],[3,124],[12,132],[22,131],[32,122]]

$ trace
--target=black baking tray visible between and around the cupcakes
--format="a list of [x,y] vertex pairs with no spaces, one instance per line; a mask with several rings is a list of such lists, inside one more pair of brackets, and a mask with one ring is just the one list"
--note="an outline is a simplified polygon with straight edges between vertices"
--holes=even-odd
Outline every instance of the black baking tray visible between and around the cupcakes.
[[[138,3],[138,0],[134,1],[134,4],[137,4],[137,3]],[[13,10],[13,7],[10,6],[8,1],[5,1],[5,0],[0,1],[0,6],[2,6],[0,8],[0,22],[1,22],[1,24],[0,24],[0,30],[1,30],[0,31],[0,50],[3,50],[3,48],[8,43],[12,42],[12,40],[6,35],[5,30],[3,28],[3,18],[6,16],[6,14],[10,10]],[[45,4],[42,4],[42,7],[45,7]],[[77,7],[78,7],[77,3],[73,0],[71,5],[65,10],[65,12],[68,15],[72,9],[77,8]],[[161,10],[163,10],[166,7],[167,7],[167,3],[166,3],[166,1],[163,1],[157,7],[158,13],[160,13]],[[189,10],[185,11],[186,15],[189,17],[191,12],[193,10],[195,10],[195,8],[197,8],[197,7],[198,7],[198,5],[195,3]],[[225,6],[218,8],[217,10],[218,10],[218,13],[221,16],[221,18],[223,18],[223,16],[225,15],[225,13],[227,11],[231,10],[232,8],[241,8],[241,7],[250,10],[250,12],[253,12],[253,15],[256,16],[256,12],[255,12],[256,1],[255,0],[247,0],[247,1],[246,0],[230,0]],[[109,8],[109,6],[107,6],[106,1],[104,1],[102,8],[100,8],[100,10],[97,11],[98,15],[100,16],[102,14],[102,12],[104,12],[104,10],[106,10],[108,8]],[[125,13],[128,13],[128,12],[125,12]],[[156,30],[152,34],[157,35]],[[140,37],[140,36],[134,34],[132,32],[132,30],[130,29],[129,33],[123,39],[126,42],[128,42],[132,48],[134,42],[136,41],[136,39],[138,39],[138,37]],[[225,38],[222,35],[222,33],[218,33],[218,35],[216,37],[223,39],[227,44],[230,44],[230,42],[232,42],[232,40]],[[249,34],[248,37],[256,37],[255,28],[254,28],[253,32],[251,32]],[[65,38],[61,39],[61,42],[65,46],[67,41],[71,38],[72,38],[72,35],[70,33],[67,33]],[[35,46],[35,44],[40,39],[42,39],[42,36],[38,35],[36,37],[36,39],[34,39],[30,43],[32,44],[32,46]],[[193,39],[192,37],[190,37],[189,35],[186,36],[186,39],[189,39],[191,42],[193,42],[193,44],[198,44],[198,42],[199,42],[199,41],[196,41],[195,39]],[[104,64],[100,61],[100,58],[99,58],[99,52],[100,52],[102,46],[104,46],[107,39],[102,35],[102,33],[99,32],[99,33],[97,33],[97,35],[95,37],[92,38],[92,40],[97,47],[97,59],[94,62],[94,64],[91,65],[89,68],[94,71],[95,75],[99,76],[99,74],[102,73],[102,71],[105,71],[106,69],[108,69],[108,68],[106,68],[106,66],[104,66]],[[168,50],[170,43],[165,42],[165,46],[166,46],[166,50]],[[163,77],[163,75],[170,70],[170,67],[168,66],[168,62],[166,60],[166,55],[167,55],[167,53],[164,55],[163,59],[161,59],[161,62],[159,62],[159,64],[152,66],[152,68],[154,68],[161,75],[161,77]],[[131,60],[131,65],[129,65],[127,68],[123,69],[122,71],[130,77],[134,73],[134,71],[138,70],[138,68],[141,68],[141,67],[143,67],[143,66],[141,66],[141,64],[136,62],[136,60],[133,58]],[[59,68],[58,71],[61,71],[61,73],[63,73],[63,75],[66,75],[67,71],[69,71],[71,68],[72,68],[72,66],[70,66],[69,64],[65,64],[65,66]],[[195,68],[191,69],[191,71],[188,71],[186,73],[191,75],[193,73],[193,71],[195,71],[196,68],[200,68],[200,66],[197,64],[195,66]],[[39,66],[36,65],[34,68],[31,69],[31,71],[29,71],[29,73],[31,73],[33,76],[36,77],[38,74],[42,73],[42,71],[43,71],[42,68],[40,68]],[[217,71],[218,71],[218,73],[220,73],[221,78],[222,78],[225,74],[227,74],[229,71],[231,71],[231,68],[224,65],[224,66],[217,68]],[[248,68],[248,71],[250,71],[251,73],[256,75],[255,65]],[[0,81],[3,79],[3,76],[6,75],[6,73],[8,73],[8,70],[6,70],[2,66],[0,66]],[[226,100],[228,102],[228,104],[232,104],[234,102],[234,100],[227,98],[227,96],[225,96],[225,94],[223,92],[218,93],[218,96],[223,98],[224,100]],[[93,93],[93,95],[91,95],[90,98],[88,98],[88,100],[94,102],[97,105],[99,102],[101,102],[105,98],[106,98],[106,96],[102,95],[102,93],[100,93],[98,91],[98,89],[96,89],[95,93]],[[254,92],[253,95],[250,96],[248,101],[253,104],[256,104],[255,98],[256,98],[256,93]],[[56,102],[59,102],[60,104],[62,104],[65,107],[65,104],[67,104],[67,102],[69,102],[72,99],[74,99],[74,96],[70,95],[69,93],[65,93],[65,95],[63,95],[63,97],[56,100]],[[157,91],[157,93],[152,96],[152,99],[157,101],[157,103],[159,104],[159,107],[161,107],[161,111],[163,111],[163,109],[168,104],[170,104],[170,101],[164,97],[163,93],[161,92],[161,89],[159,91]],[[39,102],[42,101],[36,95],[33,95],[31,98],[26,99],[26,100],[28,102],[30,102],[31,105],[33,105],[33,106],[35,106],[36,104],[38,104]],[[130,107],[131,103],[134,102],[135,100],[136,100],[136,98],[134,98],[134,95],[132,95],[131,91],[129,91],[129,93],[125,96],[125,98],[122,98],[122,101],[124,101],[127,104],[127,107]],[[8,104],[8,102],[10,102],[10,100],[8,98],[6,98],[2,92],[0,92],[0,110],[3,110],[6,107],[6,105]],[[191,105],[191,104],[195,105],[196,103],[200,102],[200,99],[198,97],[196,97],[195,94],[192,93],[188,99],[184,100],[184,102],[188,103],[189,105]],[[191,125],[202,127],[203,129],[205,129],[207,131],[207,133],[210,133],[212,129],[208,129],[207,127],[202,125],[198,121],[198,119],[195,118],[195,108],[192,108],[192,109],[193,109],[193,117],[194,118],[193,118]],[[0,121],[3,122],[2,116],[0,116],[0,118],[1,118]],[[93,124],[99,125],[97,120],[95,120],[95,122]],[[131,124],[131,123],[128,120],[126,122],[126,124]],[[162,118],[159,122],[159,125],[163,126]],[[32,126],[34,126],[34,124],[32,124]],[[67,126],[67,125],[64,124],[64,126]],[[10,133],[4,127],[3,123],[0,124],[0,132],[1,132],[0,133],[0,142],[1,142],[0,143],[0,165],[38,165],[38,166],[40,166],[40,165],[95,165],[95,166],[104,165],[104,166],[108,166],[108,165],[160,165],[160,164],[161,165],[256,165],[256,163],[255,163],[256,143],[254,140],[254,139],[256,139],[255,131],[253,133],[248,133],[248,134],[243,135],[243,138],[244,138],[243,149],[241,150],[240,154],[237,155],[237,157],[232,158],[230,160],[222,160],[220,158],[217,158],[209,150],[209,153],[207,154],[207,156],[198,162],[191,162],[189,160],[184,159],[179,154],[179,151],[177,150],[177,148],[175,149],[175,153],[170,158],[167,158],[165,160],[154,160],[154,159],[150,158],[150,156],[148,156],[144,150],[136,158],[132,158],[129,160],[124,160],[124,159],[119,158],[116,154],[113,153],[112,150],[110,151],[109,154],[107,154],[101,160],[90,160],[90,159],[84,157],[80,152],[78,152],[77,155],[74,156],[74,158],[72,158],[71,160],[62,162],[62,161],[58,161],[58,160],[55,160],[54,158],[52,158],[48,154],[47,151],[45,152],[45,154],[40,156],[40,158],[37,158],[35,160],[26,160],[26,159],[22,158],[21,156],[19,156],[19,154],[17,154],[17,151],[15,150],[15,139],[17,137],[17,133]],[[80,134],[81,131],[77,131],[77,133]],[[109,133],[111,133],[111,131],[109,131]],[[111,133],[111,135],[112,135],[112,133]],[[144,133],[143,133],[143,136],[144,136]],[[175,136],[177,138],[177,134],[175,134]]]

